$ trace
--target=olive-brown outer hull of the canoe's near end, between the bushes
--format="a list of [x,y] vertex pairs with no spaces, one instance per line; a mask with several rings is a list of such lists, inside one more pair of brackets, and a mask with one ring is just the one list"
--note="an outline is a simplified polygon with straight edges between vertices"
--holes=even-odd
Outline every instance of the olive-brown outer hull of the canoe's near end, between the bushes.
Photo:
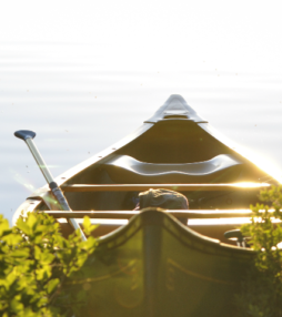
[[101,239],[85,265],[84,316],[228,316],[253,252],[148,209]]

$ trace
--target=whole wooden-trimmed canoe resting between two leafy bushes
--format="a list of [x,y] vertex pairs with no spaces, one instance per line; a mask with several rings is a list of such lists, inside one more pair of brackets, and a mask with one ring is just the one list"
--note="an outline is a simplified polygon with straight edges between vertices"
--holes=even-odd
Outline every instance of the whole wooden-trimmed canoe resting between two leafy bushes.
[[[180,95],[56,182],[75,217],[88,214],[101,223],[88,276],[74,280],[89,289],[83,315],[98,317],[230,316],[253,252],[235,246],[224,232],[238,226],[235,218],[250,216],[261,188],[279,184]],[[149,188],[182,193],[190,209],[133,212],[138,193]],[[62,217],[51,212],[57,207],[48,185],[30,195],[14,218],[36,209]],[[68,235],[71,227],[60,224]]]

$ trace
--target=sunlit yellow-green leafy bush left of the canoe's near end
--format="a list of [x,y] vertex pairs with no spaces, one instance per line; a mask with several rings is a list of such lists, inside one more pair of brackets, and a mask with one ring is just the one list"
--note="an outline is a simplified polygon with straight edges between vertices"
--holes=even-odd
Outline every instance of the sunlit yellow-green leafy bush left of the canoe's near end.
[[[87,217],[83,226],[88,235],[94,229]],[[82,242],[79,231],[63,238],[46,214],[30,213],[12,228],[0,215],[0,316],[79,316],[85,294],[64,284],[95,244],[93,237]]]

